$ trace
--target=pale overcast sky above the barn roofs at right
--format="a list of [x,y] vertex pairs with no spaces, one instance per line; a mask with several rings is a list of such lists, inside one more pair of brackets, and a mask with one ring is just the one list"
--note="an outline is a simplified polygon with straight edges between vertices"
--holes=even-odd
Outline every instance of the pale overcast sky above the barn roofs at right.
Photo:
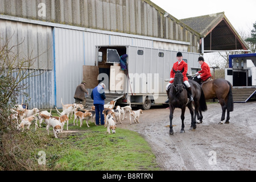
[[255,0],[151,0],[177,19],[225,12],[238,32],[251,31],[256,22]]

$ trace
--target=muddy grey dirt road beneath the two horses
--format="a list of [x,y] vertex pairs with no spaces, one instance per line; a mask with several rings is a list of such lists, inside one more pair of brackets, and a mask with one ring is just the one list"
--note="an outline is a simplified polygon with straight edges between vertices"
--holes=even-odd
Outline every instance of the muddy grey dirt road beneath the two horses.
[[[135,108],[134,108],[135,109]],[[169,135],[169,110],[153,107],[143,111],[140,123],[128,119],[117,127],[137,131],[152,147],[163,170],[256,170],[256,102],[234,104],[230,124],[219,125],[221,106],[208,104],[203,123],[189,130],[185,112],[185,133],[180,134],[181,110],[174,111],[174,135]]]

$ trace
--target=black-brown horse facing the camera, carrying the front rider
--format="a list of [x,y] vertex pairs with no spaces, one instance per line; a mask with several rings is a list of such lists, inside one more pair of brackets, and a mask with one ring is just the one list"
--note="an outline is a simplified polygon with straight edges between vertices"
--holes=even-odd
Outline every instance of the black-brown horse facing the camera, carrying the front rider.
[[[191,128],[190,129],[196,129],[196,114],[199,111],[199,107],[201,111],[207,110],[207,105],[205,103],[204,98],[204,92],[201,88],[201,86],[193,81],[189,80],[189,84],[191,85],[194,105],[195,105],[195,115],[194,110],[192,107],[192,102],[188,102],[188,93],[185,89],[185,86],[183,84],[183,75],[180,71],[175,71],[175,78],[174,83],[171,85],[170,89],[168,90],[168,98],[169,98],[169,104],[170,104],[170,135],[174,135],[174,130],[172,129],[172,119],[174,117],[174,110],[175,108],[181,109],[181,130],[180,133],[184,133],[184,114],[186,106],[188,107],[190,114],[191,114]],[[198,117],[198,114],[197,114]]]

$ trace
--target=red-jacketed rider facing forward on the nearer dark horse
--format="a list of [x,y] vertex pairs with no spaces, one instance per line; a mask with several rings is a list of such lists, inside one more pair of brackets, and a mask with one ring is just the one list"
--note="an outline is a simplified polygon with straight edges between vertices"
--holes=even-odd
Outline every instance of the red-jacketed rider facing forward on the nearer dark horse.
[[[191,91],[191,86],[188,82],[188,77],[187,77],[187,72],[188,72],[188,64],[183,61],[183,56],[182,56],[182,53],[181,52],[178,52],[177,53],[177,62],[174,63],[174,66],[172,67],[175,71],[182,71],[182,69],[184,68],[184,72],[182,73],[183,74],[183,82],[186,86],[186,89],[188,91],[188,94],[189,94],[189,101],[193,101],[193,96],[192,96],[192,91]],[[171,75],[170,75],[170,82],[166,85],[166,91],[167,91],[167,95],[168,95],[168,88],[169,86],[174,82],[174,77],[175,77],[175,73],[174,71],[171,69]],[[166,103],[169,102],[169,98],[168,100],[166,101]]]

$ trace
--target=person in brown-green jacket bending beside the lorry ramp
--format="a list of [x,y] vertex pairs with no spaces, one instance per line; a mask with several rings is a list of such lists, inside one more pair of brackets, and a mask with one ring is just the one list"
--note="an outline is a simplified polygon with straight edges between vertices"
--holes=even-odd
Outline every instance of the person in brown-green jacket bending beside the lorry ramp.
[[86,82],[82,81],[81,84],[77,86],[75,96],[74,96],[75,103],[80,104],[80,102],[82,102],[82,105],[84,106],[84,108],[88,107],[86,105],[85,93],[89,94],[85,88],[85,85],[86,85]]

